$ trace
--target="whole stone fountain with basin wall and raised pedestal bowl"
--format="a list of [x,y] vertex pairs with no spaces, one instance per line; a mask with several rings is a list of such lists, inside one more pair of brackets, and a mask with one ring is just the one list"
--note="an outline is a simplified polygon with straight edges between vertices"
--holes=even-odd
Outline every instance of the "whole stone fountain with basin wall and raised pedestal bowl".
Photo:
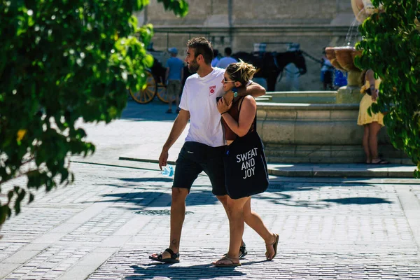
[[[368,0],[351,0],[357,20],[374,13]],[[366,8],[368,7],[368,8]],[[335,68],[348,73],[348,85],[338,90],[335,104],[258,102],[258,133],[269,162],[363,162],[363,127],[357,125],[360,69],[351,47],[327,48]],[[302,95],[302,94],[300,94]],[[379,154],[393,163],[410,160],[391,145],[386,130],[379,132]]]

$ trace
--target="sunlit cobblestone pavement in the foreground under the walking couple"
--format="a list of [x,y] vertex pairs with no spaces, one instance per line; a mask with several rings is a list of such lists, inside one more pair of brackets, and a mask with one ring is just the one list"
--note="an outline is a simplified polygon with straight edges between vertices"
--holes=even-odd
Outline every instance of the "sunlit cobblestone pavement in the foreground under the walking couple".
[[188,196],[181,262],[162,265],[148,255],[168,245],[172,179],[83,163],[73,171],[76,183],[39,192],[1,229],[3,279],[420,279],[413,181],[272,177],[253,209],[279,233],[279,254],[265,261],[247,227],[242,266],[217,268],[228,221],[207,176]]

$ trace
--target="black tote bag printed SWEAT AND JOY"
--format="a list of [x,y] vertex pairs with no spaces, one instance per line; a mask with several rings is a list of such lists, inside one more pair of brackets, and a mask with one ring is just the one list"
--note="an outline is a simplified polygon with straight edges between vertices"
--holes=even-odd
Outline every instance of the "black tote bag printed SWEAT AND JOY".
[[253,131],[227,146],[223,158],[226,190],[234,200],[264,193],[268,188],[267,162],[256,131],[256,116],[253,127]]

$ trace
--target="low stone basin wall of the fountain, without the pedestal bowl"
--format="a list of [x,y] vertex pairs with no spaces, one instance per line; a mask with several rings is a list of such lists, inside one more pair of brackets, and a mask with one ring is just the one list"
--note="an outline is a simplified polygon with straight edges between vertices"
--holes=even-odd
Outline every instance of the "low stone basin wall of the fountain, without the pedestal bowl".
[[[358,104],[286,104],[258,102],[257,131],[268,162],[363,162],[363,127]],[[409,163],[379,132],[379,153],[393,163]]]

